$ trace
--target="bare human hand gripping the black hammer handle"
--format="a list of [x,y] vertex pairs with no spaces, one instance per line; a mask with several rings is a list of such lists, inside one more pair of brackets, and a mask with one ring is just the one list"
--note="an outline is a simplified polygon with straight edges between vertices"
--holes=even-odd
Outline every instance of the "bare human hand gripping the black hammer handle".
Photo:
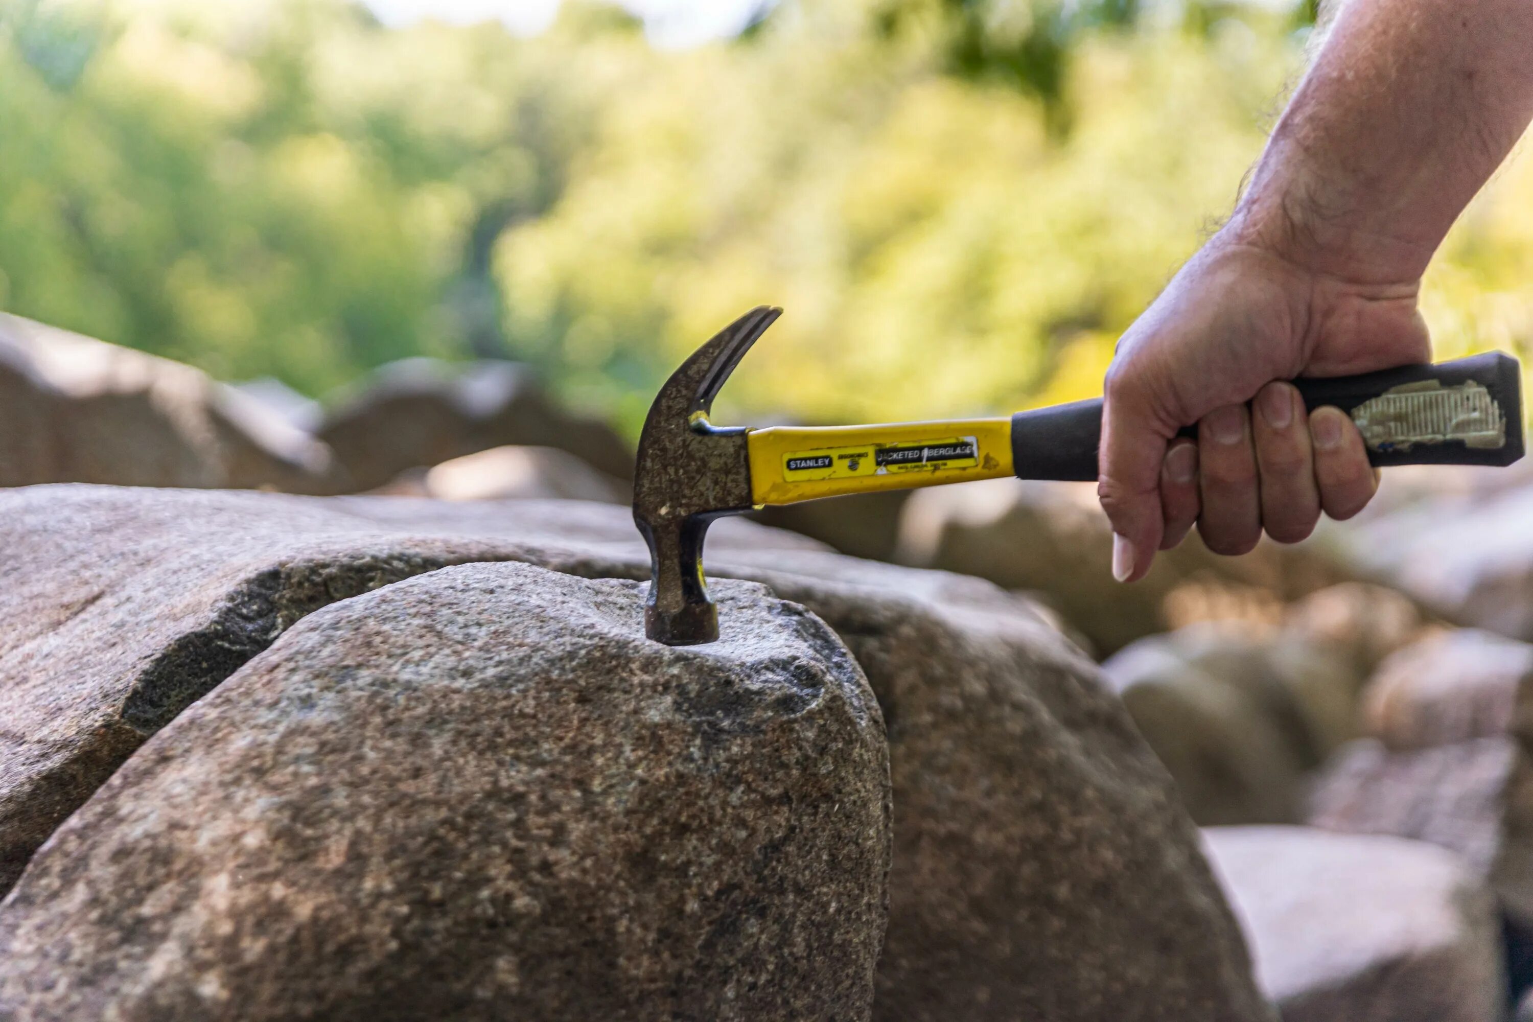
[[[1427,362],[1418,279],[1320,271],[1226,230],[1130,326],[1107,371],[1098,495],[1113,575],[1139,579],[1197,522],[1214,553],[1351,518],[1377,477],[1352,420],[1306,414],[1300,375]],[[1248,405],[1249,403],[1249,405]],[[1197,424],[1197,441],[1176,438]]]

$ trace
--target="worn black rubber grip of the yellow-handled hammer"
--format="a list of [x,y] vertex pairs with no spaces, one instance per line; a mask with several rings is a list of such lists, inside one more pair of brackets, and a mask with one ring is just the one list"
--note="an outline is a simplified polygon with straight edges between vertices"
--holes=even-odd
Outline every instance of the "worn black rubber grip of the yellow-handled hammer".
[[[1305,408],[1332,405],[1352,415],[1369,441],[1367,460],[1378,467],[1512,464],[1522,457],[1522,371],[1499,351],[1433,366],[1294,380],[1294,386]],[[1180,435],[1196,437],[1197,427]],[[1095,481],[1101,440],[1099,397],[1012,415],[1012,460],[1023,480]]]

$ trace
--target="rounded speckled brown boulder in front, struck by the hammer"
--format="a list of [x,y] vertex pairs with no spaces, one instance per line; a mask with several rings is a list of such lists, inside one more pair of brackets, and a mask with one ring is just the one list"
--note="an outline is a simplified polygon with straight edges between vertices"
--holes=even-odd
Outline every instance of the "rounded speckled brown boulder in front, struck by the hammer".
[[719,585],[446,568],[320,610],[181,714],[0,913],[8,1019],[858,1019],[889,866],[877,703]]

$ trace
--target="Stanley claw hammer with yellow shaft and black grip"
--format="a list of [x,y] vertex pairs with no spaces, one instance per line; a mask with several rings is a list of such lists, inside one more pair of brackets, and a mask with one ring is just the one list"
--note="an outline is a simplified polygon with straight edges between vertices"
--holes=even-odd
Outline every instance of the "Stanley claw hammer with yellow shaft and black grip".
[[[650,545],[644,630],[667,645],[719,637],[702,576],[708,522],[768,504],[904,490],[1015,475],[1096,480],[1102,400],[998,418],[885,426],[773,426],[708,421],[713,398],[756,339],[782,314],[759,306],[687,359],[650,406],[633,477],[633,521]],[[1522,457],[1518,360],[1487,352],[1439,365],[1294,380],[1305,408],[1352,417],[1369,461],[1512,464]],[[1182,435],[1196,437],[1196,429]]]

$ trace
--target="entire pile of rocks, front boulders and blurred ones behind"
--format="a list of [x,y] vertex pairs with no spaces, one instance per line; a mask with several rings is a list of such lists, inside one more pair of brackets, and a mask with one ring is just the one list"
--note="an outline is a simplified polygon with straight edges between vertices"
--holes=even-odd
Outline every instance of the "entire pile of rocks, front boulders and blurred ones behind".
[[1090,487],[776,509],[805,535],[714,526],[724,637],[671,650],[630,450],[524,368],[320,409],[0,317],[0,486],[195,487],[0,490],[0,1017],[1492,1022],[1533,984],[1533,647],[1443,625],[1533,633],[1516,473],[1136,587]]

